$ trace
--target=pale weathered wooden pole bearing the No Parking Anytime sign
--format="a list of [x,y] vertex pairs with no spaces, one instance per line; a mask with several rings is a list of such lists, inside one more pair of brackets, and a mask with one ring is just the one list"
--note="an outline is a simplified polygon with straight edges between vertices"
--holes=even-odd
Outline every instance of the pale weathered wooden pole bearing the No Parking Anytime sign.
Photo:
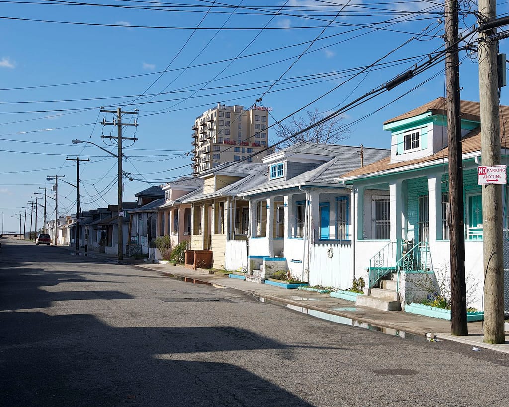
[[[496,19],[496,1],[479,0],[479,105],[481,158],[483,165],[500,165],[498,107],[498,41],[489,37],[496,26],[483,30]],[[503,22],[503,21],[502,21]],[[502,187],[483,185],[484,250],[484,342],[504,343],[504,275],[502,248]]]

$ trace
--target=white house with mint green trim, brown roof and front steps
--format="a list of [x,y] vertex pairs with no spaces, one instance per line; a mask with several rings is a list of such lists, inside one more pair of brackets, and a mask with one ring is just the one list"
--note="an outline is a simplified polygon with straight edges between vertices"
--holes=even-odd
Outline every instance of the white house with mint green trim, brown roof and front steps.
[[[500,109],[500,117],[509,118],[509,107]],[[462,101],[461,113],[467,305],[482,310],[479,104]],[[504,127],[501,123],[500,129]],[[404,302],[426,297],[430,282],[450,287],[446,101],[438,98],[386,121],[383,128],[391,133],[390,157],[335,181],[352,188],[354,272],[371,289],[361,302],[376,306],[379,301],[370,299],[374,296],[391,303],[386,309],[399,309]],[[505,137],[501,147],[503,158]],[[398,270],[387,282],[387,275]],[[507,298],[506,293],[505,309]]]

